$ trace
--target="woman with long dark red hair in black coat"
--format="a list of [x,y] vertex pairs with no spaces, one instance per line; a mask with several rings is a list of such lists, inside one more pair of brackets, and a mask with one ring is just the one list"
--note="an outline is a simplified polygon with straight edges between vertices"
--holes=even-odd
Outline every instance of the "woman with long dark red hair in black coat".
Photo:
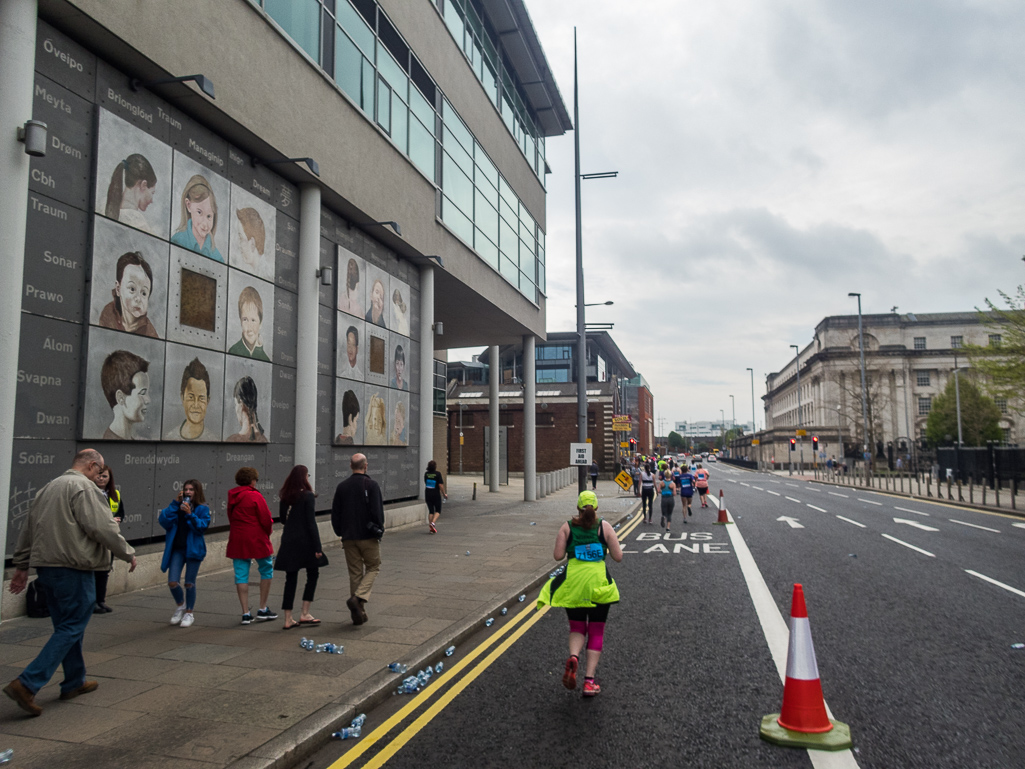
[[[281,608],[285,612],[286,631],[300,624],[320,624],[320,620],[310,613],[310,605],[317,592],[317,578],[320,576],[317,561],[322,555],[315,514],[316,496],[310,485],[310,470],[304,464],[292,468],[278,492],[281,522],[285,524],[285,530],[281,534],[281,545],[278,548],[274,568],[285,572],[285,595],[281,599]],[[302,611],[296,622],[292,619],[292,605],[295,602],[299,569],[306,570],[306,584],[302,589]]]

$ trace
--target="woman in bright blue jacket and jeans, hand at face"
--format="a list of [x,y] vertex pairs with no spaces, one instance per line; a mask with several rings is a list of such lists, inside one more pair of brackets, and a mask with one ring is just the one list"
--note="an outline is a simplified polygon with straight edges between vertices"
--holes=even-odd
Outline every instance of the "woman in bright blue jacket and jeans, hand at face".
[[[203,484],[197,480],[186,481],[170,504],[160,512],[160,525],[167,531],[164,560],[160,570],[167,572],[167,586],[177,604],[171,615],[171,624],[191,628],[196,617],[196,576],[199,565],[206,558],[206,540],[203,534],[210,525],[210,509],[203,495]],[[186,589],[181,590],[181,570],[186,572]]]

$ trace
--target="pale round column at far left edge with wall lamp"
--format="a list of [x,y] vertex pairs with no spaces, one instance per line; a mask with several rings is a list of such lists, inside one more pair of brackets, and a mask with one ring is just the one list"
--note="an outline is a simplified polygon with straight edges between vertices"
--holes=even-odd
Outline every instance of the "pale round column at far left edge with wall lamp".
[[[29,215],[29,156],[17,129],[32,119],[36,64],[36,0],[0,0],[0,545],[7,543],[10,458],[13,455],[22,280]],[[6,297],[6,298],[3,298]]]

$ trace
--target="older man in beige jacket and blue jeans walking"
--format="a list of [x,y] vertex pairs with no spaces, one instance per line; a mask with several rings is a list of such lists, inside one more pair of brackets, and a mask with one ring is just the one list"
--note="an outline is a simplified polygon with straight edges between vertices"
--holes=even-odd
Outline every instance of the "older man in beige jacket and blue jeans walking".
[[82,637],[96,601],[93,572],[110,568],[111,556],[131,564],[135,551],[121,536],[111,509],[96,486],[104,457],[95,449],[75,455],[71,470],[43,486],[32,502],[14,550],[14,576],[10,592],[20,593],[35,568],[53,622],[53,635],[22,675],[4,687],[4,693],[32,716],[42,689],[63,665],[60,699],[95,691],[98,684],[85,680]]

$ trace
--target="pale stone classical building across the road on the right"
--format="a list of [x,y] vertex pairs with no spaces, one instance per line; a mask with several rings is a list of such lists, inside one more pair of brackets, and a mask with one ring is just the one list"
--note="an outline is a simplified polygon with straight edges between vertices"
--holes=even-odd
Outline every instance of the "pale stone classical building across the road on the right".
[[[969,366],[965,345],[1000,342],[995,315],[931,313],[865,315],[866,411],[872,453],[877,458],[913,453],[925,438],[933,400],[943,393],[954,367]],[[801,387],[797,387],[799,364]],[[962,370],[961,376],[971,376]],[[814,459],[812,438],[827,457],[861,455],[866,419],[862,416],[858,316],[829,316],[816,327],[812,341],[780,371],[766,377],[766,431],[738,441],[739,455],[777,464],[789,455],[789,439],[798,428],[806,463]],[[1006,400],[997,399],[1004,440],[1019,442],[1022,426]],[[840,448],[840,441],[845,449]],[[795,452],[795,453],[799,453]]]

